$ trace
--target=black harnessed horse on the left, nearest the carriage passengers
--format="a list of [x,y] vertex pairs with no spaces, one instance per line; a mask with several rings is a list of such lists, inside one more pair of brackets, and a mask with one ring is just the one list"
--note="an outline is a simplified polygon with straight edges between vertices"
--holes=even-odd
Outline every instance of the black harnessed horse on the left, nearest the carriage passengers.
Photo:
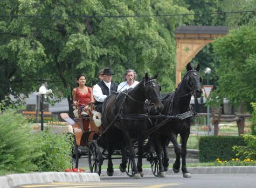
[[[156,82],[157,75],[150,78],[145,77],[128,92],[118,95],[109,95],[102,105],[103,138],[107,144],[108,151],[108,176],[113,175],[112,154],[114,149],[121,149],[122,163],[120,170],[126,170],[127,156],[125,147],[128,148],[128,156],[132,161],[134,178],[141,178],[143,142],[146,139],[148,129],[147,120],[143,118],[144,102],[146,99],[154,104],[155,110],[161,112],[163,105],[160,99],[160,85]],[[112,125],[113,124],[113,125]],[[138,162],[135,164],[135,151],[132,138],[138,140]],[[140,172],[140,173],[139,173]]]

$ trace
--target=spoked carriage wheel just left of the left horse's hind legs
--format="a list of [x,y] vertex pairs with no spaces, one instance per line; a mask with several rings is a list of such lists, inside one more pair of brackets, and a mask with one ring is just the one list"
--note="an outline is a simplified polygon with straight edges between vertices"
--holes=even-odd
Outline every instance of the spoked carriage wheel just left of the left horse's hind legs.
[[100,151],[100,147],[94,140],[92,140],[89,144],[88,161],[90,171],[98,173],[100,176],[103,158],[102,153]]

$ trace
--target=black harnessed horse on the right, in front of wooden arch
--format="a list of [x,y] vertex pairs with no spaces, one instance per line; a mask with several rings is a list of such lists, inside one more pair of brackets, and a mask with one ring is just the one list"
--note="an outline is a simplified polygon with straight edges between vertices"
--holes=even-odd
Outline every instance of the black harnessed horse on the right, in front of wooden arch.
[[[202,77],[199,75],[199,64],[196,69],[193,69],[190,63],[186,66],[186,74],[178,88],[167,95],[161,96],[164,108],[162,114],[164,115],[181,115],[181,119],[170,119],[167,123],[154,132],[150,136],[151,143],[154,144],[157,158],[159,161],[160,176],[164,177],[164,171],[168,171],[169,158],[167,154],[167,147],[170,141],[174,144],[176,161],[172,167],[174,172],[178,173],[181,165],[180,156],[182,155],[182,172],[183,177],[191,177],[189,171],[186,169],[186,143],[190,135],[190,126],[192,124],[193,111],[190,106],[191,96],[198,98],[202,95]],[[151,114],[155,114],[154,109]],[[182,145],[179,146],[177,142],[177,135],[181,135]],[[163,151],[163,152],[162,152]]]

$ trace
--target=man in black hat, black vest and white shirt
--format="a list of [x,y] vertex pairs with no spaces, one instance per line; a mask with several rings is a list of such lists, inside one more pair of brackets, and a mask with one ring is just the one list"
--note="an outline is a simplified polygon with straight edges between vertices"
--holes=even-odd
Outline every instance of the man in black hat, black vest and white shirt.
[[105,98],[113,92],[117,91],[118,84],[112,82],[112,70],[104,69],[103,70],[103,80],[98,82],[93,86],[93,96],[96,103],[96,111],[102,112],[102,104]]

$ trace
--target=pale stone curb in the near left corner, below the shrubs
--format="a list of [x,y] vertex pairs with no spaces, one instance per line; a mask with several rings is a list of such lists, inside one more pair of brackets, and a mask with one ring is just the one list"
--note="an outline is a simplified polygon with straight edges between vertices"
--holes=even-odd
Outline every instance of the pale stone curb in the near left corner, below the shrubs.
[[18,185],[52,182],[100,182],[98,173],[77,172],[34,172],[0,176],[0,188]]

